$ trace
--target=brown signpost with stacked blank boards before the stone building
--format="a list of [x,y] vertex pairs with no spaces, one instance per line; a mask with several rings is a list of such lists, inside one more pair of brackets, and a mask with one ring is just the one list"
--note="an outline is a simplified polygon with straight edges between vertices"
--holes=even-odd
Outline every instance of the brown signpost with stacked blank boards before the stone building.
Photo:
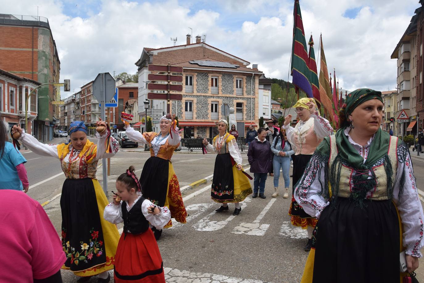
[[170,101],[171,100],[182,100],[181,94],[171,94],[171,91],[182,91],[183,86],[182,84],[171,84],[171,81],[175,82],[182,82],[183,76],[173,76],[171,73],[182,73],[183,67],[181,66],[171,66],[170,63],[167,65],[148,65],[149,71],[156,71],[156,72],[164,72],[166,74],[149,74],[148,79],[150,81],[163,81],[166,82],[166,84],[148,84],[147,88],[148,90],[165,90],[166,93],[157,93],[157,92],[149,92],[147,94],[147,98],[149,99],[166,99],[167,100],[167,113],[170,113],[171,106]]

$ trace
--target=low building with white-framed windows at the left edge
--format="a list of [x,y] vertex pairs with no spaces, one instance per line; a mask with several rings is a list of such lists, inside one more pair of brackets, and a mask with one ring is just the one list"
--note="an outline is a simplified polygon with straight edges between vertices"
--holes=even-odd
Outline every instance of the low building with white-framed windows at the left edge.
[[[25,127],[25,96],[39,86],[38,81],[0,70],[0,113],[9,126]],[[28,98],[28,133],[32,133],[33,120],[37,117],[37,92]]]

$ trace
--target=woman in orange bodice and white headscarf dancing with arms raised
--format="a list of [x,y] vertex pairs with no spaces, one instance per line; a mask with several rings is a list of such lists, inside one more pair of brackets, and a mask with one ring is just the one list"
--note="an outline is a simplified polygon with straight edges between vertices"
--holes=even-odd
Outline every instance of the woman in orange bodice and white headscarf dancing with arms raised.
[[[140,184],[143,197],[160,207],[169,207],[171,217],[186,223],[187,212],[184,207],[177,175],[171,163],[171,157],[180,144],[181,137],[176,126],[175,115],[170,114],[160,119],[161,132],[140,133],[134,130],[127,120],[125,130],[127,137],[137,143],[148,144],[151,157],[144,163]],[[164,228],[172,227],[170,220]],[[162,230],[153,229],[156,239]]]

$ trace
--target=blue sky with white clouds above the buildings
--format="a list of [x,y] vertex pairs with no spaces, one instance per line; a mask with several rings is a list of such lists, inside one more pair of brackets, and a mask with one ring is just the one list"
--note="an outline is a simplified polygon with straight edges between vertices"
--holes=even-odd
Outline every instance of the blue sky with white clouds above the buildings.
[[[185,44],[185,35],[258,64],[269,78],[287,80],[293,32],[293,0],[15,0],[2,13],[47,17],[59,50],[61,80],[71,90],[98,73],[136,73],[142,48]],[[396,87],[390,59],[418,0],[301,0],[307,40],[315,56],[323,36],[329,70],[339,87]],[[318,62],[318,58],[317,58]],[[319,66],[318,66],[319,71]],[[291,76],[289,77],[291,81]],[[71,92],[72,93],[72,92]],[[62,98],[69,92],[62,93]]]

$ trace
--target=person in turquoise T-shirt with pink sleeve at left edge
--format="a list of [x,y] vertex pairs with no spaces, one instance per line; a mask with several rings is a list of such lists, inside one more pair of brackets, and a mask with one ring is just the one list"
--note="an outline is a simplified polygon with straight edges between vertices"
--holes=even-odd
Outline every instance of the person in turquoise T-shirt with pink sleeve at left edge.
[[8,141],[6,125],[0,122],[0,189],[28,192],[25,157]]

